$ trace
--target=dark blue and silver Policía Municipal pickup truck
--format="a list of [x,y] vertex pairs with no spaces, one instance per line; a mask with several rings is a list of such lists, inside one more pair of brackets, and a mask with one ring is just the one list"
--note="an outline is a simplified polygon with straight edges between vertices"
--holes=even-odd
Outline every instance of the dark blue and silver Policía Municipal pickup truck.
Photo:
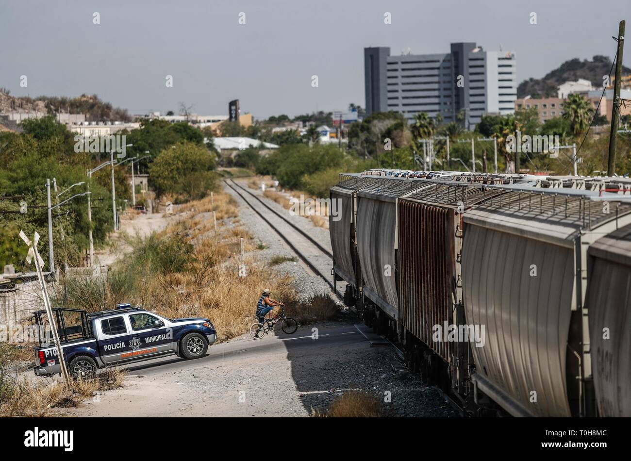
[[[102,366],[123,365],[168,354],[184,359],[203,357],[217,333],[208,318],[166,318],[129,304],[87,313],[54,308],[61,348],[74,379],[95,376]],[[35,375],[61,373],[45,310],[33,322],[42,332],[35,347]]]

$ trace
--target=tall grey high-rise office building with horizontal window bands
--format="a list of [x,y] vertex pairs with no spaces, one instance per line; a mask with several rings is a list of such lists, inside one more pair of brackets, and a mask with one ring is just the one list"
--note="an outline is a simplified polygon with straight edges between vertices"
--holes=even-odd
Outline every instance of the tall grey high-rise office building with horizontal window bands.
[[484,114],[512,114],[517,98],[513,52],[484,51],[475,43],[451,44],[449,53],[391,56],[387,47],[365,48],[366,114],[418,112],[442,115],[444,122],[463,116],[473,128]]

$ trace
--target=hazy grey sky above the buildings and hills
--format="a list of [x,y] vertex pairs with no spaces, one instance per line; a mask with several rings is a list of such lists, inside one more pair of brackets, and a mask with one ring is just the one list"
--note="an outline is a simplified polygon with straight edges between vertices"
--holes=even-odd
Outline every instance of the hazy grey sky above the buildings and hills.
[[630,13],[628,0],[0,0],[0,86],[15,96],[97,93],[131,114],[177,113],[179,102],[227,114],[233,98],[255,117],[343,110],[365,105],[364,47],[501,45],[517,54],[519,83],[573,57],[613,59],[611,36]]

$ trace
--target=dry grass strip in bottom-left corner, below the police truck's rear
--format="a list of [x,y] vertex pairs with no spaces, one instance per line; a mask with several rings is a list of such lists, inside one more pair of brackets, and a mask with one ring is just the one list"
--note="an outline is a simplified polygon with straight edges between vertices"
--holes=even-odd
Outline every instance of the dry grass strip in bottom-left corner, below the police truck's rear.
[[15,380],[10,398],[0,403],[0,416],[50,416],[51,408],[76,407],[81,400],[93,397],[98,392],[122,387],[125,373],[118,368],[107,368],[93,380],[71,383],[46,384]]

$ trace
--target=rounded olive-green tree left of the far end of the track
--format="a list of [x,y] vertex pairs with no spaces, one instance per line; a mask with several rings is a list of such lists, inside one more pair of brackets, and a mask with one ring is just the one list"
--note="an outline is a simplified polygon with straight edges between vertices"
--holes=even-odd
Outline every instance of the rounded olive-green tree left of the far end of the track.
[[205,146],[180,141],[160,152],[149,169],[158,196],[175,195],[176,200],[204,197],[215,189],[215,155]]

